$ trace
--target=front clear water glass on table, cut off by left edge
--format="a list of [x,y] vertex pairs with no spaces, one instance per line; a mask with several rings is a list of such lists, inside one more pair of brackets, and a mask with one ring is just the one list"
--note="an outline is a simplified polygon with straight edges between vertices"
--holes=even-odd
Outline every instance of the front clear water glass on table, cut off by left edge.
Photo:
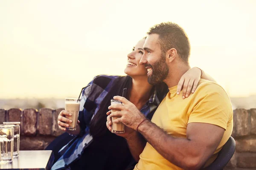
[[14,127],[0,126],[0,163],[12,162]]

